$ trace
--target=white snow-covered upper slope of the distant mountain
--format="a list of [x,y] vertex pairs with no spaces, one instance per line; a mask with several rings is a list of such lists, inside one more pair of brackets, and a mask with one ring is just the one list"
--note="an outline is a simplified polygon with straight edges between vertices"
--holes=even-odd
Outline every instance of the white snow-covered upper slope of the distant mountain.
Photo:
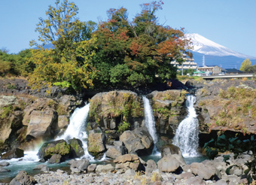
[[190,41],[192,41],[194,52],[211,56],[236,56],[238,58],[254,58],[230,50],[227,47],[221,46],[220,44],[217,44],[214,41],[210,41],[209,39],[204,38],[202,35],[199,35],[197,33],[185,34],[185,37],[190,38]]

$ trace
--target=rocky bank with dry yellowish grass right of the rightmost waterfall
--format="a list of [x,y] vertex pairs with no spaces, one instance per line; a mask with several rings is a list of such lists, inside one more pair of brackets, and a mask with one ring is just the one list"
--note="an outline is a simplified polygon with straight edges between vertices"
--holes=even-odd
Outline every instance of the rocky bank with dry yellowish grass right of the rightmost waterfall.
[[196,89],[200,131],[256,134],[256,84],[253,80],[190,81]]

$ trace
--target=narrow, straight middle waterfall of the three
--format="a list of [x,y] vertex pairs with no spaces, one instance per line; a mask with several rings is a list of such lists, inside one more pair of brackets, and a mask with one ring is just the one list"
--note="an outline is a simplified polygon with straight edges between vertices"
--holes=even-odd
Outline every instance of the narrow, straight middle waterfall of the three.
[[151,135],[154,141],[154,149],[152,154],[158,155],[160,153],[157,151],[157,131],[156,123],[154,121],[153,110],[151,108],[151,105],[149,104],[149,100],[145,96],[142,96],[142,98],[144,102],[145,124],[149,134]]

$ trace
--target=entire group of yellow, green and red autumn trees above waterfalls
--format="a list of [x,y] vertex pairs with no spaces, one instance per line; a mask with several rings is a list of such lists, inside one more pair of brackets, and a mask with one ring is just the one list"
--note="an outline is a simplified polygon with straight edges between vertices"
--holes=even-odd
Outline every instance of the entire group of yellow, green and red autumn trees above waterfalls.
[[[187,52],[183,29],[157,22],[163,2],[141,5],[132,21],[126,8],[107,11],[98,24],[78,20],[78,7],[68,0],[49,6],[47,19],[39,19],[38,41],[26,59],[29,82],[36,89],[62,86],[84,88],[137,88],[165,83],[176,76],[172,59],[182,62]],[[50,50],[44,44],[53,44]]]

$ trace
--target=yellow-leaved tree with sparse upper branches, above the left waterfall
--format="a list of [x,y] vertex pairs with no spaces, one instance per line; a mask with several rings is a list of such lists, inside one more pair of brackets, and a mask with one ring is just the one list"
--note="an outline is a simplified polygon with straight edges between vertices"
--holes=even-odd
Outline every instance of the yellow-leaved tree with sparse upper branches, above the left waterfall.
[[[27,63],[35,65],[29,74],[29,84],[35,89],[44,86],[62,86],[77,92],[93,86],[90,75],[94,69],[90,65],[96,38],[90,35],[95,29],[93,22],[78,20],[75,3],[56,0],[56,8],[49,6],[47,19],[39,18],[38,41],[31,41],[40,50],[32,50],[32,58]],[[53,44],[53,50],[44,50],[44,44]]]

